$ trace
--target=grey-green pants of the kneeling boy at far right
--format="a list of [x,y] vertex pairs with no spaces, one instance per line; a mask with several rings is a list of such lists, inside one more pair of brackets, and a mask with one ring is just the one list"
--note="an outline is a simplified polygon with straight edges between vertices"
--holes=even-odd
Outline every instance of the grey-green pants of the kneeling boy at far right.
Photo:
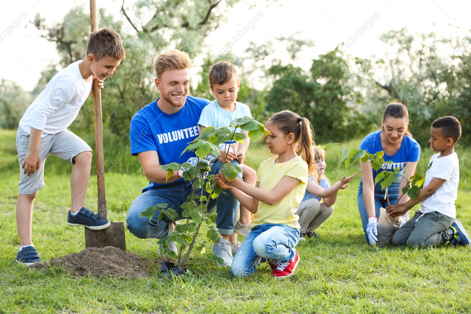
[[[455,218],[448,217],[438,211],[424,214],[417,210],[392,237],[395,246],[410,245],[415,247],[436,247],[450,241],[453,231],[450,229]],[[420,218],[419,218],[420,217]],[[415,221],[417,220],[417,221]]]

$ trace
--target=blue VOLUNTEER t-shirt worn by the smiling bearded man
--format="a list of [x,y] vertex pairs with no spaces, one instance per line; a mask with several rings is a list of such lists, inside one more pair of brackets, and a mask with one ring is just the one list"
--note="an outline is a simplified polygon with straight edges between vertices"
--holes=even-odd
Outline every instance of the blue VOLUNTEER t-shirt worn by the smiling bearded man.
[[[157,98],[159,100],[159,98]],[[199,136],[198,120],[203,108],[210,102],[204,98],[187,96],[185,105],[177,113],[163,113],[157,100],[139,110],[131,119],[129,135],[131,154],[156,151],[159,163],[183,163],[195,157],[194,152],[186,151],[188,143]],[[183,181],[183,178],[172,182]],[[165,184],[149,182],[142,193],[148,189]]]

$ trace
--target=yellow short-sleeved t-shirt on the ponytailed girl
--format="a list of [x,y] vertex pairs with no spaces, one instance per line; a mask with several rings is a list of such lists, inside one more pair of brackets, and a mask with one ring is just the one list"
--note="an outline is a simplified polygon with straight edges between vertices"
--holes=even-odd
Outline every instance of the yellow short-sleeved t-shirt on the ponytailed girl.
[[275,163],[278,156],[263,161],[257,171],[257,182],[260,188],[271,191],[283,177],[293,177],[300,180],[300,183],[283,199],[275,205],[268,205],[259,201],[255,218],[250,224],[250,229],[261,224],[289,225],[292,228],[299,228],[299,216],[296,215],[299,203],[304,197],[308,182],[308,164],[300,156],[296,156],[289,161]]

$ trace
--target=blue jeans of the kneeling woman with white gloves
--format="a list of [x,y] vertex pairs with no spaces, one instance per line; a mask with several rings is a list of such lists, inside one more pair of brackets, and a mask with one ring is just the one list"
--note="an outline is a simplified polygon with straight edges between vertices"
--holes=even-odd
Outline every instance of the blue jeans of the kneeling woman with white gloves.
[[[388,188],[389,202],[394,205],[398,202],[399,197],[399,182],[393,183]],[[381,183],[374,185],[374,208],[376,209],[376,217],[380,217],[380,208],[388,207],[388,200],[384,199],[386,189],[382,190]],[[365,232],[366,242],[368,241],[368,234],[366,234],[366,226],[368,225],[368,214],[366,213],[365,200],[363,198],[363,180],[360,179],[360,185],[358,186],[357,193],[358,211],[360,212],[361,223],[363,225],[363,231]]]

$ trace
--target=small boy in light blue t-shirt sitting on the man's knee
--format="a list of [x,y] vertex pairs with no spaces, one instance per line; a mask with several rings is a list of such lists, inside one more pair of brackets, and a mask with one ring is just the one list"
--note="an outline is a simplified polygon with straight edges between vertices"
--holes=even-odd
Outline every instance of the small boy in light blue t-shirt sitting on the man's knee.
[[[234,64],[231,64],[226,61],[221,61],[214,64],[209,71],[209,83],[211,93],[216,97],[216,100],[211,102],[209,105],[204,107],[200,120],[198,121],[198,126],[200,127],[200,132],[205,127],[214,127],[221,128],[229,126],[230,122],[242,117],[252,117],[250,108],[248,105],[239,103],[235,101],[237,99],[237,92],[240,88],[239,76],[237,75],[237,70],[235,69]],[[220,154],[219,156],[208,155],[208,160],[210,161],[210,166],[212,163],[219,162],[227,163],[233,160],[236,160],[240,163],[242,167],[242,174],[244,182],[254,185],[257,178],[257,173],[254,169],[244,165],[245,152],[249,148],[250,139],[248,137],[247,131],[242,131],[237,129],[237,132],[244,132],[247,138],[244,139],[244,144],[240,145],[236,141],[232,143],[227,142],[226,144],[219,145]],[[227,149],[229,152],[227,153]],[[224,156],[227,153],[227,158],[224,160]],[[216,158],[217,157],[217,158]],[[237,220],[234,226],[235,233],[238,233],[244,237],[250,232],[249,225],[251,222],[250,212],[241,205],[240,207],[240,219]],[[219,245],[224,254],[226,253],[225,247],[229,246],[226,242],[221,243],[224,239],[219,240]],[[240,243],[237,242],[237,235],[233,234],[229,237],[229,242],[232,245],[231,252],[235,254],[237,249],[240,246]],[[218,244],[218,243],[216,243]],[[217,249],[217,248],[216,248]],[[213,251],[215,249],[213,248]],[[213,252],[213,254],[215,254]],[[219,254],[216,254],[219,256]],[[232,256],[231,256],[232,258]]]

